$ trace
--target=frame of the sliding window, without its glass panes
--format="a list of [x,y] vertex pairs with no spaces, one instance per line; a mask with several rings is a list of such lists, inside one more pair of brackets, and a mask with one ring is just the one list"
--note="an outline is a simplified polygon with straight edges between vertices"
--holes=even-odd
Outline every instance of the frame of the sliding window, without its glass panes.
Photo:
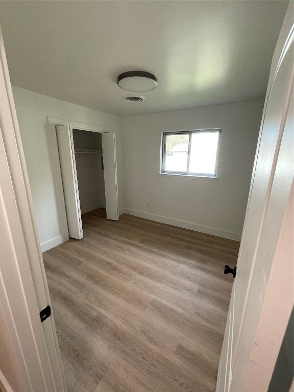
[[[217,132],[218,133],[218,141],[217,141],[217,151],[216,151],[216,159],[215,159],[215,170],[214,174],[207,173],[188,173],[189,160],[190,160],[190,150],[191,150],[191,134],[192,133],[204,133],[204,132]],[[180,177],[208,177],[208,178],[218,178],[218,156],[219,156],[219,145],[220,145],[220,136],[222,134],[222,130],[215,129],[193,129],[187,131],[171,131],[171,132],[162,132],[161,136],[161,159],[160,159],[160,174],[163,175],[174,175]],[[170,171],[164,170],[165,167],[165,147],[166,147],[166,136],[168,135],[189,135],[189,145],[188,145],[188,160],[187,160],[187,170],[186,171]]]

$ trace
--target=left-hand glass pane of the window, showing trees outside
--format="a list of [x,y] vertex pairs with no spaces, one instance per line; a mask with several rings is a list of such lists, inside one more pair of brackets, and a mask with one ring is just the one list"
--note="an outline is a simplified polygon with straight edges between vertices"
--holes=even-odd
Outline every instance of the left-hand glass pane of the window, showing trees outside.
[[187,171],[189,134],[166,135],[165,171]]

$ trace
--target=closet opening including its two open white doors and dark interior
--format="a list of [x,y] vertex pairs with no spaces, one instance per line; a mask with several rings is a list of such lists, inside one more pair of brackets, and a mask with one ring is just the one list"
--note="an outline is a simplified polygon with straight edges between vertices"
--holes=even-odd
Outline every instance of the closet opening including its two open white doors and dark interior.
[[82,239],[83,213],[106,208],[118,220],[115,134],[56,126],[68,233]]

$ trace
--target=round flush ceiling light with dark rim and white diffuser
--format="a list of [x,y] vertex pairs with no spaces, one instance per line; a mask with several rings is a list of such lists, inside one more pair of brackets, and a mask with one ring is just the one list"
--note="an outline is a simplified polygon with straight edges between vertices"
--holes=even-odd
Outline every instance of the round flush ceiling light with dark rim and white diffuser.
[[151,91],[157,86],[157,79],[150,72],[128,71],[118,76],[117,85],[126,91]]

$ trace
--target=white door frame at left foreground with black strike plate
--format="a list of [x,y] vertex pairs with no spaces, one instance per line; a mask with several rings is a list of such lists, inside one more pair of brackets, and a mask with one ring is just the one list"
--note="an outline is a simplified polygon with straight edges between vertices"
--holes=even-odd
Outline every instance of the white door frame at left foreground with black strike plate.
[[[66,390],[0,28],[0,389]],[[37,282],[37,284],[36,284]]]

